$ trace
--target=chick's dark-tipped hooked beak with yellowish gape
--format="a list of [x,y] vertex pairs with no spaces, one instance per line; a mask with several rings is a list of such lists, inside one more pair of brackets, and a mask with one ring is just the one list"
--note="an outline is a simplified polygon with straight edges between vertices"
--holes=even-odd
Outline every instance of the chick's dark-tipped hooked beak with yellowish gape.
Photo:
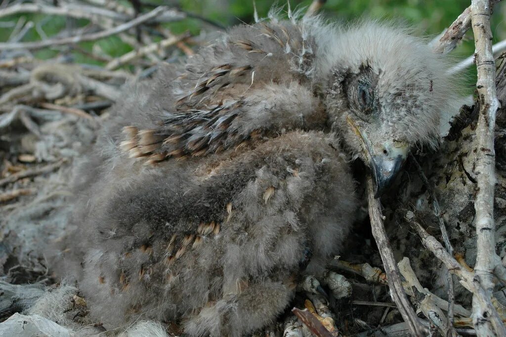
[[350,117],[347,120],[361,140],[364,157],[374,175],[376,185],[374,198],[379,198],[390,187],[397,173],[401,170],[407,158],[409,145],[398,140],[387,140],[381,144],[372,144],[367,138],[367,134],[361,131]]

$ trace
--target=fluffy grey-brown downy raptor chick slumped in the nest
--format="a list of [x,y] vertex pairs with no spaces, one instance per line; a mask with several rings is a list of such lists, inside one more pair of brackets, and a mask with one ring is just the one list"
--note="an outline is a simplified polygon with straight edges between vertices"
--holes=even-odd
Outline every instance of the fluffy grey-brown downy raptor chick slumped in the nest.
[[262,327],[342,249],[351,158],[379,188],[409,147],[437,142],[454,97],[444,69],[396,27],[274,16],[160,65],[82,159],[59,274],[105,326]]

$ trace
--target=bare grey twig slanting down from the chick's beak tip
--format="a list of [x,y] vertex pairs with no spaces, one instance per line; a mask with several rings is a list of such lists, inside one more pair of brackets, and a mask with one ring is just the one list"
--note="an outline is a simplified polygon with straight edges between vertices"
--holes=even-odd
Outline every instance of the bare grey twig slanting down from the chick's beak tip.
[[390,248],[390,243],[383,224],[384,217],[381,213],[381,204],[379,204],[378,199],[374,198],[374,187],[372,185],[371,176],[367,177],[367,200],[369,204],[372,235],[378,246],[379,255],[381,255],[385,272],[387,273],[392,300],[397,305],[411,334],[414,336],[423,336],[426,334],[426,329],[418,322],[418,318],[404,293],[399,269],[397,268],[394,253]]

